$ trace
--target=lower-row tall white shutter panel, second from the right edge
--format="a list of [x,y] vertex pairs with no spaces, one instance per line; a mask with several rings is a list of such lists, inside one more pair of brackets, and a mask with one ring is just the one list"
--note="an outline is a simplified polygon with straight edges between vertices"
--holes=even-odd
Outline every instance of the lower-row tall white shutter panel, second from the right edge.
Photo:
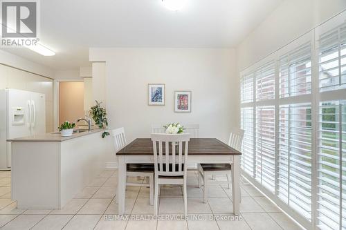
[[311,220],[311,104],[280,106],[279,116],[277,194]]

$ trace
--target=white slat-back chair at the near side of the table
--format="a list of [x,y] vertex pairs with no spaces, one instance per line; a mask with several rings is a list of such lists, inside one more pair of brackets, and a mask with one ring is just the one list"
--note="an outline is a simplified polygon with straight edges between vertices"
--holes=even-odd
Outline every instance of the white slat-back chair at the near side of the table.
[[[154,214],[158,215],[158,191],[161,184],[183,186],[184,215],[188,215],[188,193],[186,189],[188,142],[190,134],[152,133],[155,169]],[[172,155],[170,154],[172,152]]]

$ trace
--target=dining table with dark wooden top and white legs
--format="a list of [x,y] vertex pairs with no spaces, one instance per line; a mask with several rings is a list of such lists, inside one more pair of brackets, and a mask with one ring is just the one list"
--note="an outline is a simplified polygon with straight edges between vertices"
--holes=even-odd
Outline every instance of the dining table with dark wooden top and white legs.
[[[233,213],[239,215],[240,157],[242,153],[216,138],[191,138],[188,142],[188,164],[229,163],[232,169]],[[125,213],[127,164],[154,164],[153,143],[150,138],[136,138],[116,153],[118,157],[118,214]],[[185,162],[186,164],[186,162]]]

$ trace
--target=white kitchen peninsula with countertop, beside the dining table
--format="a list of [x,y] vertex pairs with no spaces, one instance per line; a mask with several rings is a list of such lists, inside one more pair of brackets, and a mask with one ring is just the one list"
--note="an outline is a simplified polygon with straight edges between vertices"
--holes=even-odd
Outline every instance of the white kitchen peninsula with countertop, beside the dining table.
[[106,168],[113,138],[103,129],[11,141],[12,200],[18,209],[61,209]]

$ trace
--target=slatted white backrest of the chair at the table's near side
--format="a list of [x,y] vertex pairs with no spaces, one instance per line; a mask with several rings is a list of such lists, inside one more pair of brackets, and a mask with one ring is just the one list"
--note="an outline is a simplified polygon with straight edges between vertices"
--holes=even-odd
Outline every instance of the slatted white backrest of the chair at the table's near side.
[[[154,148],[154,163],[156,175],[186,175],[188,162],[188,142],[190,134],[163,134],[152,133]],[[159,144],[157,148],[157,144]],[[165,159],[163,159],[163,146],[165,145]],[[185,145],[184,151],[183,146]],[[170,148],[172,155],[170,157]],[[178,153],[176,152],[178,151]],[[184,157],[183,157],[184,155]],[[178,158],[178,159],[176,159]],[[177,161],[178,160],[178,161]],[[171,166],[171,167],[170,167]]]

